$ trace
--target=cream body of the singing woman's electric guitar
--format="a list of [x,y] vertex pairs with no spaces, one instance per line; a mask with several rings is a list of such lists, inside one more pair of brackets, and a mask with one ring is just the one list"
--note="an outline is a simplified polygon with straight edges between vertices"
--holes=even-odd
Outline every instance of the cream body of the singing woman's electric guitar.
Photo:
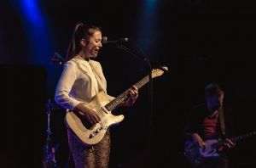
[[124,115],[112,115],[111,111],[104,108],[108,104],[108,95],[104,92],[98,92],[86,107],[95,110],[101,118],[99,123],[90,126],[83,120],[81,113],[67,111],[65,116],[66,125],[79,137],[79,140],[85,145],[93,145],[99,143],[104,137],[109,126],[119,124],[124,120]]

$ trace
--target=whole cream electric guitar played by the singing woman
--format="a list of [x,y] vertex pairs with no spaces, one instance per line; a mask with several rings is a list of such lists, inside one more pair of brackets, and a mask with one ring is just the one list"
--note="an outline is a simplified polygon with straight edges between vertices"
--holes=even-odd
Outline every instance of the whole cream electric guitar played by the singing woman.
[[[152,70],[152,78],[161,76],[167,70],[168,68],[166,66]],[[134,86],[139,89],[148,83],[148,81],[149,76],[145,76],[141,81],[134,84]],[[114,98],[111,102],[109,102],[108,95],[105,92],[98,92],[90,103],[85,104],[85,106],[95,110],[100,116],[101,121],[91,126],[88,122],[83,120],[84,116],[81,112],[67,111],[65,116],[66,124],[85,145],[90,146],[99,143],[109,126],[117,125],[124,120],[124,115],[112,115],[111,111],[116,109],[126,98],[128,98],[128,89],[119,94],[119,96]]]

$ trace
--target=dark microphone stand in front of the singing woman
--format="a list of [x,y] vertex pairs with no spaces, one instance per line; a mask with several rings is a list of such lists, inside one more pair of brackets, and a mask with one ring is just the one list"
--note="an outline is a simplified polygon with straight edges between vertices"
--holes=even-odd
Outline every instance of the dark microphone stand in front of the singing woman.
[[[148,64],[148,76],[149,76],[149,80],[148,80],[148,86],[149,86],[149,103],[150,103],[150,119],[149,119],[149,134],[153,128],[153,124],[152,124],[152,120],[153,120],[153,81],[152,81],[152,68],[151,68],[151,64],[149,59],[146,56],[134,53],[133,51],[131,51],[130,48],[126,48],[124,45],[122,45],[121,43],[116,44],[116,47],[119,49],[124,50],[127,53],[131,53],[131,55],[136,56],[140,59],[143,59],[143,61],[146,62],[146,64]],[[152,132],[151,132],[152,133]],[[152,136],[152,135],[149,135]],[[149,139],[150,140],[150,139]],[[150,141],[149,141],[150,143]],[[150,144],[149,144],[150,145]]]

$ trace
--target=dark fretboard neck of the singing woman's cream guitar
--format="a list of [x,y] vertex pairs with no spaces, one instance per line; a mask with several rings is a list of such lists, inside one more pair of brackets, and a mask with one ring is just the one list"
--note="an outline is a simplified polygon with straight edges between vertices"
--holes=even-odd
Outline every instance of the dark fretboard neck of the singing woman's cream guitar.
[[[143,87],[146,83],[149,81],[149,76],[145,76],[142,80],[138,81],[136,84],[134,84],[137,89]],[[125,90],[125,92],[122,92],[119,94],[118,97],[114,98],[111,102],[105,105],[105,107],[109,110],[112,111],[115,109],[119,104],[121,104],[126,98],[128,98],[128,90]]]

